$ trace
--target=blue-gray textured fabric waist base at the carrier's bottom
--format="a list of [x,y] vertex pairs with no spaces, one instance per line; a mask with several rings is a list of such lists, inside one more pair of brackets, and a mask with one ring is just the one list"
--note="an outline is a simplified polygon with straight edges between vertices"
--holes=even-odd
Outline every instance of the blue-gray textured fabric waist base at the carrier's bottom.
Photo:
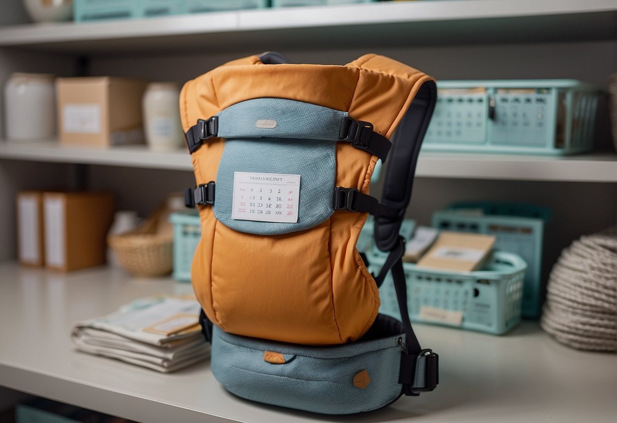
[[[214,327],[211,369],[231,393],[253,401],[322,414],[352,414],[399,398],[400,335],[339,347],[304,347],[225,333]],[[287,362],[271,364],[265,351]],[[361,389],[354,377],[366,370]]]

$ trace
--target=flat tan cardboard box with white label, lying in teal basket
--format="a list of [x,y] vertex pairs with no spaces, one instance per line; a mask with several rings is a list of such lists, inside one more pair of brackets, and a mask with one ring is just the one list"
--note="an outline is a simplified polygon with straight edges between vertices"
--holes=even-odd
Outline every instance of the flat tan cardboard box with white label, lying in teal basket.
[[478,270],[494,244],[492,235],[442,231],[416,266],[467,272]]

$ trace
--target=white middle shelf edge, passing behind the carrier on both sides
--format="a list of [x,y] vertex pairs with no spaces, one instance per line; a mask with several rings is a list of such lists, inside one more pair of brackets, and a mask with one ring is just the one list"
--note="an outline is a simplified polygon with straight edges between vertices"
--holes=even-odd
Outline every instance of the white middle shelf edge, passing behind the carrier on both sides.
[[[0,142],[0,158],[34,162],[84,163],[168,170],[193,170],[186,150],[159,153],[146,146],[114,148],[63,146],[58,142]],[[617,155],[569,157],[468,153],[420,154],[420,178],[510,179],[517,181],[617,182]]]

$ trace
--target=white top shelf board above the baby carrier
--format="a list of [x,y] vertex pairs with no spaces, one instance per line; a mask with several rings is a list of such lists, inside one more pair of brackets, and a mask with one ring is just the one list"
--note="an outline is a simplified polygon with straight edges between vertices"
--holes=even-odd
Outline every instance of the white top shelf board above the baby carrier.
[[263,46],[613,40],[616,17],[614,0],[380,2],[13,25],[0,28],[0,46],[94,54],[136,47],[157,51],[208,47],[212,52]]

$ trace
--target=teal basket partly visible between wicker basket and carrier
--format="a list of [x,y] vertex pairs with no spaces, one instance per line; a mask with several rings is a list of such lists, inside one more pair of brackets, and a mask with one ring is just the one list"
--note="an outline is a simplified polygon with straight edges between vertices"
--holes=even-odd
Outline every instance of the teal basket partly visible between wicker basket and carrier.
[[191,282],[191,265],[201,239],[201,223],[196,211],[178,211],[169,216],[173,223],[173,279]]

